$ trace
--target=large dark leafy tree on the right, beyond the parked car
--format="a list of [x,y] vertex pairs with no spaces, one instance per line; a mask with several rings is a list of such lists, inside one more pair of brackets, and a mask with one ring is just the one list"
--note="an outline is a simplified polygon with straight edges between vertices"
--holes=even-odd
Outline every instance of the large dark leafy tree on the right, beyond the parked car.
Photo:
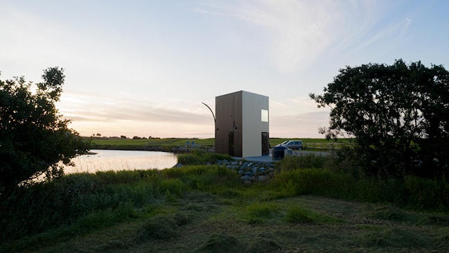
[[449,166],[449,72],[421,62],[346,67],[324,94],[331,107],[327,138],[354,137],[355,157],[369,173],[432,177]]

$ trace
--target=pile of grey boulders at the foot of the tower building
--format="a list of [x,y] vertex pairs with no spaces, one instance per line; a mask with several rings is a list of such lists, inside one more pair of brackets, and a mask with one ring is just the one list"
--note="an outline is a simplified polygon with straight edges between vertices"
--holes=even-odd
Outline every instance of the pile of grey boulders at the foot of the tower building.
[[216,164],[236,171],[243,184],[265,182],[274,177],[273,163],[219,160]]

